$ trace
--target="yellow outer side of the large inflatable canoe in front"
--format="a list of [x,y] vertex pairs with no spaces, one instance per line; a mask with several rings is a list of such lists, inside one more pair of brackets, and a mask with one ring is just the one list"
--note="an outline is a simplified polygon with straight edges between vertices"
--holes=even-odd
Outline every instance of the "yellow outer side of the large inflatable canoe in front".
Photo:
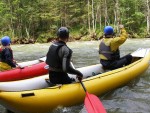
[[[149,65],[150,52],[143,57],[136,57],[135,62],[128,66],[86,78],[83,83],[89,93],[101,96],[141,75]],[[0,92],[0,104],[15,113],[48,113],[59,106],[80,104],[84,98],[85,92],[80,83],[30,91]]]

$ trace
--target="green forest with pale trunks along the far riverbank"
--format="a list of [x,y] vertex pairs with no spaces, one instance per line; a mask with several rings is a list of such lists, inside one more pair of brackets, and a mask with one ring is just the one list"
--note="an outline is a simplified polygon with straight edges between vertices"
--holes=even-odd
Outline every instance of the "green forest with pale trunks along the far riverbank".
[[0,0],[0,36],[15,43],[48,42],[60,26],[71,39],[97,40],[123,24],[130,38],[149,37],[149,0]]

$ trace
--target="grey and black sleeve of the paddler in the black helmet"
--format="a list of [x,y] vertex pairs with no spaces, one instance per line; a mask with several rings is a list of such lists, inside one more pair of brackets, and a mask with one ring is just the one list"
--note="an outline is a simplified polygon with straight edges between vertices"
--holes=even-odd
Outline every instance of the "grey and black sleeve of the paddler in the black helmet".
[[78,76],[83,76],[83,74],[74,69],[71,65],[71,57],[72,57],[72,50],[69,49],[68,47],[66,46],[63,46],[62,47],[62,68],[63,68],[63,71],[64,72],[67,72],[67,73],[70,73],[70,74],[75,74],[75,75],[78,75]]

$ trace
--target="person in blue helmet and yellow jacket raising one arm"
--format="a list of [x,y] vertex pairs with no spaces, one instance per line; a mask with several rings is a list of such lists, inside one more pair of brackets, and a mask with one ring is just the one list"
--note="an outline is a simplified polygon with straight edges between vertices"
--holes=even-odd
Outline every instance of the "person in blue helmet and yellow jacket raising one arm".
[[105,37],[99,45],[100,63],[106,69],[117,69],[131,63],[132,56],[126,55],[120,58],[119,46],[127,39],[127,33],[123,25],[120,25],[121,35],[114,37],[114,30],[111,26],[104,28]]

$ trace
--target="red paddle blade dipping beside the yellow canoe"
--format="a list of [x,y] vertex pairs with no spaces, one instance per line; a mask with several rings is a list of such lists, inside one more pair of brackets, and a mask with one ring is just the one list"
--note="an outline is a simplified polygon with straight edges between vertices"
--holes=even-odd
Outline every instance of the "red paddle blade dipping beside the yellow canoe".
[[99,98],[86,92],[84,104],[88,113],[107,113]]

